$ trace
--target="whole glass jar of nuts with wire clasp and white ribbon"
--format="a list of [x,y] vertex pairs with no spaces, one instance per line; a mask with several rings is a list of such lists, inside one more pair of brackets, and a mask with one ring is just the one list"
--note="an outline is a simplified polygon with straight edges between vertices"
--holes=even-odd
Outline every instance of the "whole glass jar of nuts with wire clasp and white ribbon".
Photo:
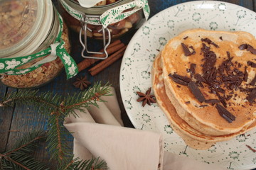
[[[106,49],[111,40],[139,28],[144,23],[144,18],[149,16],[146,0],[111,0],[107,1],[107,4],[90,8],[82,7],[76,0],[59,0],[59,2],[63,6],[60,13],[65,22],[79,33],[83,47],[82,57],[85,58],[93,58],[86,56],[85,52],[87,52],[87,54],[105,54],[105,57],[97,57],[97,59],[106,59],[108,57]],[[143,15],[143,12],[146,14]],[[102,40],[104,52],[88,50],[87,38]]]

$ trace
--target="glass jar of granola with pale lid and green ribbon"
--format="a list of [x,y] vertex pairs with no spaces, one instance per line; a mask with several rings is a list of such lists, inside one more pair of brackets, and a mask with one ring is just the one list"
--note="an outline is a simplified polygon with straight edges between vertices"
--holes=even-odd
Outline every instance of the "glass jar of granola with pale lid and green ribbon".
[[[62,30],[61,18],[52,2],[50,0],[2,0],[0,15],[0,71],[1,69],[8,71],[2,72],[1,82],[14,88],[35,88],[58,76],[63,70],[60,57],[52,53],[43,55],[43,50],[47,50],[55,42]],[[65,24],[60,39],[65,42],[65,50],[70,52],[68,28]],[[42,56],[38,52],[41,52]],[[41,57],[31,60],[34,54]],[[18,61],[22,56],[28,57]],[[4,64],[6,64],[5,68],[3,68]],[[32,70],[31,67],[36,69],[28,72]],[[11,74],[14,73],[14,69],[22,72]]]

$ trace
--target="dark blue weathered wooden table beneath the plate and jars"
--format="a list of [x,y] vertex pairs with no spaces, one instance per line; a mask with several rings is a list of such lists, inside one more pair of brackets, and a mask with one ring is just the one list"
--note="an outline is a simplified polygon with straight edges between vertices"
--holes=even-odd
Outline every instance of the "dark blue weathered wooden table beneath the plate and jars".
[[[252,11],[256,11],[255,0],[225,1],[244,6]],[[149,6],[151,8],[150,17],[154,16],[156,13],[164,10],[165,8],[183,2],[186,2],[186,0],[149,0]],[[53,0],[53,3],[56,4],[56,0]],[[126,37],[122,38],[122,41],[128,43],[130,38],[132,38],[132,35],[127,35]],[[74,57],[76,62],[80,62],[82,57],[80,57],[81,45],[78,42],[78,34],[70,31],[70,40],[72,44],[71,55]],[[124,110],[119,91],[119,69],[121,62],[122,60],[118,60],[103,72],[97,74],[95,77],[91,77],[87,70],[80,72],[78,77],[86,75],[91,82],[101,81],[102,84],[110,82],[117,92],[117,98],[119,101],[119,106],[122,110],[122,119],[124,120],[124,125],[126,127],[133,127],[132,123],[129,121],[127,113]],[[60,74],[52,82],[41,87],[39,91],[53,91],[54,94],[66,96],[67,94],[73,94],[74,92],[80,91],[79,89],[75,89],[73,86],[74,81],[75,79],[66,80],[65,72],[62,72],[62,74]],[[0,96],[9,94],[11,91],[18,91],[18,89],[12,89],[0,84]],[[6,108],[4,110],[0,109],[0,152],[5,152],[6,150],[11,149],[18,138],[22,137],[27,132],[31,132],[31,130],[46,130],[47,123],[47,118],[45,118],[42,114],[37,113],[37,108],[19,106],[14,108]],[[71,135],[69,140],[70,142],[73,140]],[[38,151],[37,154],[44,155],[45,150],[42,149],[41,151]]]

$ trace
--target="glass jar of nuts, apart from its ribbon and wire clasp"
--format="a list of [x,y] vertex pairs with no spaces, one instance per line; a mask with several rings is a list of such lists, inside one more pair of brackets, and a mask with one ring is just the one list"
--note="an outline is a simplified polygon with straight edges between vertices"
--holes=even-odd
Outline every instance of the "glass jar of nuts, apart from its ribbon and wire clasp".
[[[133,0],[114,0],[110,1],[110,4],[106,5],[99,5],[99,6],[92,6],[91,8],[85,8],[80,6],[78,1],[76,0],[60,0],[64,1],[65,4],[68,4],[71,8],[75,9],[75,11],[78,11],[79,13],[85,13],[85,15],[91,15],[95,16],[95,18],[99,18],[102,13],[105,11],[114,8],[115,6],[121,6],[122,4],[127,4]],[[74,18],[73,16],[70,16],[70,13],[68,13],[64,8],[61,8],[61,14],[63,15],[63,18],[66,23],[68,23],[68,26],[75,30],[76,32],[80,32],[81,30],[81,22]],[[116,39],[119,38],[121,35],[124,35],[124,33],[129,32],[129,30],[132,30],[133,28],[137,28],[139,23],[142,23],[142,10],[137,11],[137,13],[133,13],[131,16],[128,16],[127,18],[124,18],[122,21],[119,21],[117,23],[112,23],[107,28],[110,29],[111,38]],[[93,39],[102,39],[102,25],[93,25],[88,23],[87,24],[87,37],[93,38]],[[107,32],[105,33],[106,38],[108,39]]]

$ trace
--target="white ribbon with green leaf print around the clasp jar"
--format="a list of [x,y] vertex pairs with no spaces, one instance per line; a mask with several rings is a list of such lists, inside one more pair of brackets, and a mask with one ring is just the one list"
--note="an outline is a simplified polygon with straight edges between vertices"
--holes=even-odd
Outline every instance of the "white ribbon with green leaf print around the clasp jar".
[[[65,10],[70,13],[70,16],[73,16],[77,20],[84,23],[90,23],[92,25],[102,25],[104,28],[107,28],[107,26],[111,23],[117,23],[118,21],[122,21],[124,18],[131,16],[133,13],[136,13],[141,9],[144,11],[144,16],[146,20],[149,18],[150,13],[147,0],[134,0],[127,4],[111,8],[110,10],[105,11],[105,13],[102,13],[100,18],[88,17],[85,15],[85,13],[81,13],[80,11],[77,11],[74,8],[70,7],[67,3],[65,3],[64,0],[60,0],[60,3],[63,5]],[[132,10],[127,11],[127,9]]]

